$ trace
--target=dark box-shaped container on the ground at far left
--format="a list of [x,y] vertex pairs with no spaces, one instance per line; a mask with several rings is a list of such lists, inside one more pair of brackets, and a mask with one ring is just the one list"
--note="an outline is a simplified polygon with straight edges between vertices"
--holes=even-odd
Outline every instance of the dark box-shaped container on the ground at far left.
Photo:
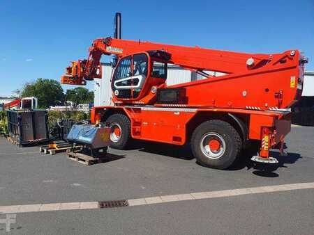
[[17,145],[49,140],[47,111],[35,109],[8,110],[8,133]]

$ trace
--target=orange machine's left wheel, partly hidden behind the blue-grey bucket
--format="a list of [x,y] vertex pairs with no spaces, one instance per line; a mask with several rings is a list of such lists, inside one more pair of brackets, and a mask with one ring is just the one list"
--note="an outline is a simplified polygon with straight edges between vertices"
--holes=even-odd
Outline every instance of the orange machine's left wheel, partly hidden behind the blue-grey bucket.
[[130,140],[130,120],[126,115],[116,113],[107,118],[110,123],[110,147],[124,149]]

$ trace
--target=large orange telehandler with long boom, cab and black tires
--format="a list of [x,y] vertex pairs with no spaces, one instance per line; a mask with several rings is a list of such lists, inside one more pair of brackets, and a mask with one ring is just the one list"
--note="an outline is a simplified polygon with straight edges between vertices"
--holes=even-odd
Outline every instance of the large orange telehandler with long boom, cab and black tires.
[[[173,145],[190,143],[202,165],[225,169],[242,149],[255,147],[253,161],[278,163],[291,128],[290,107],[301,97],[304,64],[297,49],[246,54],[170,44],[99,38],[87,60],[72,62],[61,83],[101,79],[100,57],[118,59],[112,72],[113,106],[96,106],[91,122],[109,122],[111,147],[131,138]],[[167,64],[205,78],[167,86]],[[206,71],[223,72],[211,76]]]

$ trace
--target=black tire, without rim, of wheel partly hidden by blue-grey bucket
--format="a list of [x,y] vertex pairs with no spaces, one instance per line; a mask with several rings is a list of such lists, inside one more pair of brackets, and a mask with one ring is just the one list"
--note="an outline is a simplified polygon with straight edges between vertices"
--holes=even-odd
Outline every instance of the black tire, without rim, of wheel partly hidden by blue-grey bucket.
[[110,134],[110,147],[114,149],[125,149],[130,140],[130,120],[126,115],[116,113],[107,118],[106,122],[110,123],[110,127],[114,124],[118,124],[121,127],[121,136],[119,140],[112,141]]

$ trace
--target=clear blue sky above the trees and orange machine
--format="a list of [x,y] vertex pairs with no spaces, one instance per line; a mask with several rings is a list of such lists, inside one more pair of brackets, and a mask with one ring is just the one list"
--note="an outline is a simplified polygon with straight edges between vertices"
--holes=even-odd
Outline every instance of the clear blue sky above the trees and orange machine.
[[59,81],[94,39],[112,36],[116,12],[124,39],[247,53],[299,49],[314,71],[314,0],[1,0],[0,97],[40,77]]

